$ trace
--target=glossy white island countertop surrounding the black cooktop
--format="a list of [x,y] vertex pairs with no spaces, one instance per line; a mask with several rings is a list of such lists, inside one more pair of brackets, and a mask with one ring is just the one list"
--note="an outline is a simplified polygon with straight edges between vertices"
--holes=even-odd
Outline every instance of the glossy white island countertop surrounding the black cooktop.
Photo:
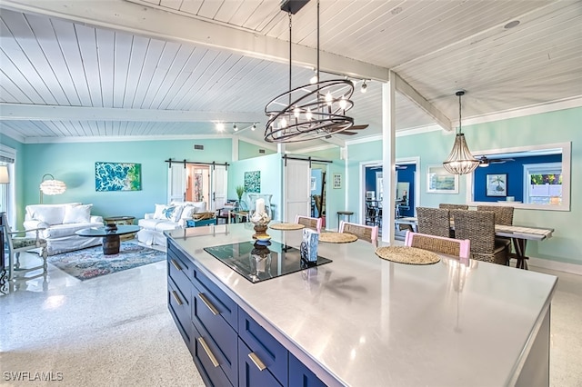
[[[267,232],[276,242],[300,243],[301,231]],[[446,257],[424,266],[390,263],[364,241],[319,243],[318,254],[332,263],[250,283],[203,250],[250,241],[252,233],[251,223],[239,223],[170,235],[290,352],[351,386],[506,385],[557,283]]]

